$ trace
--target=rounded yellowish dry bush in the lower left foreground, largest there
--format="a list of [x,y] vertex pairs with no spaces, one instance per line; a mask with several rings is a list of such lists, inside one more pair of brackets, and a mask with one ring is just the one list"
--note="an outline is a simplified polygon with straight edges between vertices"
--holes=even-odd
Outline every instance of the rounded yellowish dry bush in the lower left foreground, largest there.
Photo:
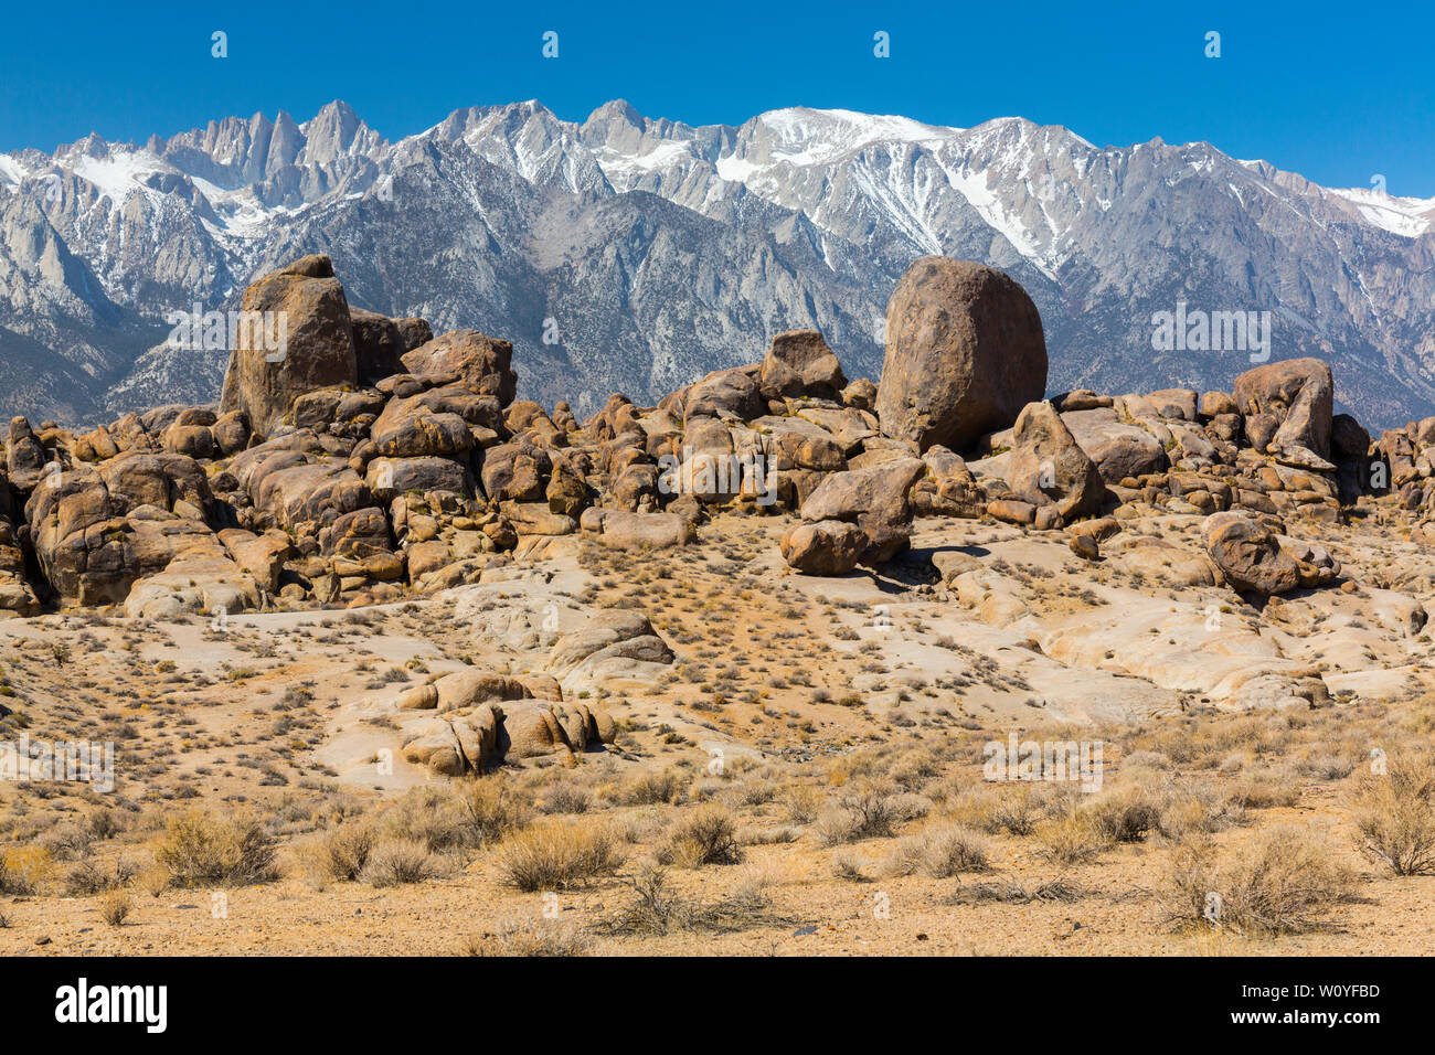
[[274,840],[250,814],[174,817],[155,844],[155,861],[178,887],[248,886],[277,874]]

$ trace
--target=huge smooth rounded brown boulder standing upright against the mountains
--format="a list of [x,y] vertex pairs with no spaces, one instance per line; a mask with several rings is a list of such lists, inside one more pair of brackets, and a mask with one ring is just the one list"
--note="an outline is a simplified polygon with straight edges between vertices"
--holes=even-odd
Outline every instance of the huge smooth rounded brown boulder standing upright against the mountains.
[[969,451],[1046,390],[1036,304],[984,264],[923,257],[887,301],[887,357],[877,390],[883,432]]

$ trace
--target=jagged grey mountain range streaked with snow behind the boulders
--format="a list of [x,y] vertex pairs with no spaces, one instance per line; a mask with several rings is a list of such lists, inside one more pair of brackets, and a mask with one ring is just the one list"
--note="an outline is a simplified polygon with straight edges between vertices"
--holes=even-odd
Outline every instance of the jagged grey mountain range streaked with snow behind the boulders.
[[[1049,392],[1228,390],[1266,359],[1317,356],[1340,408],[1398,425],[1435,411],[1432,231],[1435,201],[1016,118],[794,108],[692,128],[527,102],[387,142],[336,102],[304,123],[0,155],[0,411],[93,423],[215,400],[231,349],[174,347],[171,314],[238,307],[309,253],[354,307],[504,334],[519,393],[580,415],[608,392],[653,402],[792,329],[875,378],[888,297],[930,254],[1029,291]],[[1159,313],[1225,326],[1162,342]]]

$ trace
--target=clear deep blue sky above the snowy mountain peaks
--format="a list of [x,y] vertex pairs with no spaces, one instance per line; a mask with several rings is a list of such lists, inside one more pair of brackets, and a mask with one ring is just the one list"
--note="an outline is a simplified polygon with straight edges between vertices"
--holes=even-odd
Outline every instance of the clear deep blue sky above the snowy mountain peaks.
[[[872,55],[878,30],[890,59]],[[459,106],[540,99],[581,119],[624,98],[695,125],[798,103],[959,126],[1019,115],[1099,146],[1205,139],[1326,185],[1380,174],[1391,194],[1435,197],[1432,39],[1435,4],[1320,0],[26,3],[0,32],[0,151],[255,111],[304,121],[336,98],[390,139]]]

